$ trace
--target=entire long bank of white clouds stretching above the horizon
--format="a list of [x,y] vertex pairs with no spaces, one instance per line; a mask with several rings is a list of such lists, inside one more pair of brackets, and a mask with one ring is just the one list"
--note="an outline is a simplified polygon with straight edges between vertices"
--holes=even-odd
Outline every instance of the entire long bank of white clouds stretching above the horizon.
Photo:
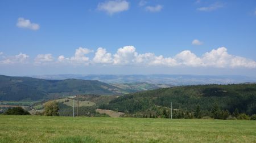
[[[72,65],[72,66],[164,66],[164,67],[211,67],[211,68],[256,68],[256,62],[252,59],[232,55],[226,47],[218,47],[201,55],[200,57],[190,50],[183,50],[174,57],[164,57],[154,53],[139,54],[134,46],[124,46],[117,49],[116,53],[109,53],[105,48],[98,47],[93,50],[79,47],[72,57],[59,55],[55,58],[52,54],[38,54],[34,60],[30,60],[27,54],[6,56],[0,55],[0,65],[9,64],[33,64],[40,65]],[[90,58],[88,54],[93,53]]]

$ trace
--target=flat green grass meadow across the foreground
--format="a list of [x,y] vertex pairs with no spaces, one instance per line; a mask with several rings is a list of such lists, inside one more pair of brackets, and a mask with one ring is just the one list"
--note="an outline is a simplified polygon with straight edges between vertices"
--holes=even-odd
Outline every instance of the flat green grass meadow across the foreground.
[[0,142],[256,142],[256,121],[0,115]]

